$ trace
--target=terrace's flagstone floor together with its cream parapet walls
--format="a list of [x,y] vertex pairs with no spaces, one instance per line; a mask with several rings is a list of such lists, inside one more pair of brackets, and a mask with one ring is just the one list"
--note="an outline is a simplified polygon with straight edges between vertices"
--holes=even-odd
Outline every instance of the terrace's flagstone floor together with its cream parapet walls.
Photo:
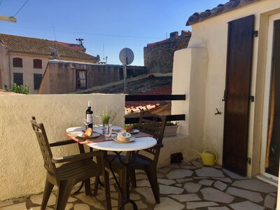
[[[45,169],[29,120],[36,116],[44,123],[50,141],[66,139],[67,127],[83,124],[87,100],[94,104],[94,111],[101,112],[105,106],[116,110],[116,125],[125,122],[125,94],[67,94],[67,95],[0,95],[1,97],[1,209],[39,209],[44,188]],[[3,98],[5,97],[5,98]],[[188,99],[186,99],[188,101]],[[180,106],[176,106],[180,107]],[[24,110],[24,111],[22,111]],[[186,113],[177,108],[176,113]],[[274,209],[277,188],[257,179],[232,174],[219,165],[203,167],[199,161],[191,161],[196,155],[188,148],[200,148],[185,134],[183,127],[188,120],[180,122],[177,137],[163,141],[158,163],[161,203],[155,204],[146,176],[137,174],[139,187],[132,191],[139,209]],[[194,145],[191,146],[191,145]],[[57,155],[77,152],[69,146]],[[184,162],[170,165],[170,155],[182,152]],[[168,186],[168,187],[167,187]],[[55,192],[54,192],[55,195]],[[104,209],[102,188],[97,197],[85,197],[83,193],[71,195],[67,209]],[[117,205],[116,184],[111,179],[113,209]],[[20,198],[20,199],[18,199]],[[54,196],[49,203],[53,209]]]

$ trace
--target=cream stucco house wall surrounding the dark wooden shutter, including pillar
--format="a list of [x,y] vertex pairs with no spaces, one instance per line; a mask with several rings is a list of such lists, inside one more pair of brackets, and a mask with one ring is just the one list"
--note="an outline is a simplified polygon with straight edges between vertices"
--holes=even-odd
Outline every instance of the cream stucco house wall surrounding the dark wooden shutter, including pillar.
[[[188,146],[195,148],[214,149],[218,152],[218,164],[222,163],[223,155],[223,119],[224,119],[224,103],[222,102],[225,90],[225,73],[226,73],[226,56],[228,46],[228,22],[248,15],[255,15],[256,31],[259,36],[254,38],[253,47],[253,69],[251,76],[251,95],[256,96],[255,102],[250,104],[249,117],[249,136],[248,136],[248,158],[252,158],[252,164],[248,165],[248,176],[258,172],[260,162],[260,120],[262,120],[262,92],[256,90],[263,88],[264,71],[262,67],[266,59],[267,43],[264,38],[267,31],[267,17],[274,13],[279,13],[280,1],[263,0],[251,3],[248,6],[232,10],[228,13],[209,18],[203,22],[192,25],[192,36],[188,44],[188,49],[176,51],[174,54],[174,70],[173,70],[173,94],[186,93],[186,102],[174,102],[172,104],[172,113],[181,110],[187,113],[187,122],[184,124],[183,132],[189,134]],[[261,30],[261,31],[260,31]],[[259,46],[261,43],[261,46]],[[193,50],[197,48],[207,51],[208,61],[204,66],[205,69],[197,69],[196,65],[203,61],[200,53],[192,55]],[[203,58],[203,57],[202,57]],[[195,62],[197,64],[195,64]],[[205,70],[205,71],[204,71]],[[194,72],[203,72],[204,76],[195,75]],[[258,76],[257,76],[258,75]],[[204,80],[206,78],[206,82]],[[195,90],[195,97],[192,96],[193,85],[195,88],[200,87],[203,90]],[[196,97],[204,97],[204,102],[200,99],[200,103],[196,102]],[[255,113],[255,106],[258,105],[258,113]],[[193,107],[193,108],[192,108]],[[221,111],[221,115],[215,115],[216,108]],[[192,118],[192,111],[195,109]],[[198,123],[197,120],[203,120]],[[256,122],[255,119],[258,119]],[[202,126],[203,124],[203,126]],[[255,125],[258,124],[258,127]],[[191,129],[192,126],[199,126],[197,130]],[[192,132],[201,132],[197,134],[199,138],[194,138]],[[190,153],[188,154],[190,157]],[[188,158],[187,157],[187,158]],[[253,167],[254,172],[252,172]]]

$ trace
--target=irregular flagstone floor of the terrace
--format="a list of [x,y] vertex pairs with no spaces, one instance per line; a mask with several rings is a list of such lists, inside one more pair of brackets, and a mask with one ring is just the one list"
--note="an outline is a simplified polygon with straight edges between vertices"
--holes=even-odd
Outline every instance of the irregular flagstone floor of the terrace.
[[[233,174],[219,166],[205,167],[199,160],[172,164],[158,169],[160,204],[155,204],[153,193],[145,174],[137,174],[137,188],[132,190],[132,199],[138,209],[179,210],[258,210],[276,209],[277,188],[258,179],[249,179]],[[75,190],[75,189],[73,189]],[[118,209],[118,191],[111,179],[113,209]],[[42,195],[33,195],[20,200],[0,202],[1,210],[40,209]],[[47,209],[54,209],[52,194]],[[104,190],[100,186],[97,197],[85,196],[83,190],[69,197],[66,209],[105,209]],[[127,204],[126,209],[132,209]]]

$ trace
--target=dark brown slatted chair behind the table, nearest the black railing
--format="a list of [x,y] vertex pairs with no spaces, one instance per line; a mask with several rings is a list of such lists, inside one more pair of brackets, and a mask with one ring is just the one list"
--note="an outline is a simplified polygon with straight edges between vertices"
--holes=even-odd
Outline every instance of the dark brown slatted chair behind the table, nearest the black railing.
[[[148,180],[150,182],[151,188],[153,190],[153,195],[155,197],[155,202],[157,204],[160,203],[160,192],[158,188],[158,177],[157,177],[157,165],[158,158],[160,155],[160,148],[162,148],[162,138],[163,133],[165,132],[165,116],[158,116],[155,114],[145,114],[144,111],[141,111],[139,118],[138,129],[140,132],[145,132],[146,134],[151,134],[155,139],[157,139],[158,144],[153,146],[153,148],[146,149],[144,151],[139,151],[137,156],[135,157],[134,153],[127,153],[126,156],[121,156],[123,161],[128,161],[128,158],[135,158],[134,161],[130,165],[130,182],[132,183],[132,187],[137,187],[137,182],[135,179],[135,170],[143,170],[146,172],[148,176]],[[108,155],[108,160],[112,160],[112,156]],[[134,156],[134,157],[133,157]],[[125,160],[127,158],[127,160]],[[105,163],[106,167],[108,167],[108,162]],[[111,162],[111,167],[114,172],[116,172],[119,176],[119,183],[122,189],[125,189],[125,167],[120,164],[118,158]],[[125,192],[124,192],[125,193]],[[123,202],[123,197],[119,193],[118,204]]]

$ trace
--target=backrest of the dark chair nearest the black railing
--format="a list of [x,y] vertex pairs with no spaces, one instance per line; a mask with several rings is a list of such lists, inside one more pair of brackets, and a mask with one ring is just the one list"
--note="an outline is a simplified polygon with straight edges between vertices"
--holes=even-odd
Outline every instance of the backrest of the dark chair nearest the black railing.
[[157,139],[158,144],[154,146],[153,148],[150,148],[148,150],[145,150],[146,152],[153,155],[153,161],[155,162],[155,165],[158,163],[158,156],[160,155],[160,148],[162,145],[162,138],[163,133],[165,132],[165,123],[166,123],[166,117],[165,116],[159,116],[156,114],[145,114],[144,111],[141,111],[139,123],[138,123],[138,129],[140,132],[145,132],[146,134],[151,134],[153,138]]

